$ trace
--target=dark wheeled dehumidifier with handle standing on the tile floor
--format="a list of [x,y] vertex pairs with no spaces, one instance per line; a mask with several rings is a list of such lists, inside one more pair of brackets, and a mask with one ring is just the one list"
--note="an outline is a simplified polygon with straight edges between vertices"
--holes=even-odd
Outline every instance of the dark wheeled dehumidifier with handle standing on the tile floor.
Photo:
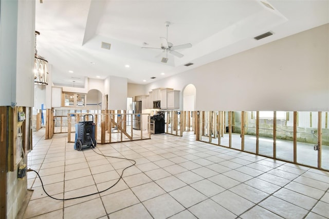
[[[92,118],[90,121],[89,118]],[[83,121],[76,124],[76,141],[74,149],[81,151],[85,148],[96,147],[95,123],[93,115],[84,115]]]

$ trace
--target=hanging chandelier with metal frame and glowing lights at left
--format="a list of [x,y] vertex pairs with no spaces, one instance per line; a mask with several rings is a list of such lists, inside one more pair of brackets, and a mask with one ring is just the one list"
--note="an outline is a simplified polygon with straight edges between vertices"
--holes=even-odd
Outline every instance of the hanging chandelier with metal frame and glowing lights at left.
[[36,50],[36,35],[40,35],[40,32],[35,31],[34,84],[48,85],[48,61],[38,55],[38,50]]

